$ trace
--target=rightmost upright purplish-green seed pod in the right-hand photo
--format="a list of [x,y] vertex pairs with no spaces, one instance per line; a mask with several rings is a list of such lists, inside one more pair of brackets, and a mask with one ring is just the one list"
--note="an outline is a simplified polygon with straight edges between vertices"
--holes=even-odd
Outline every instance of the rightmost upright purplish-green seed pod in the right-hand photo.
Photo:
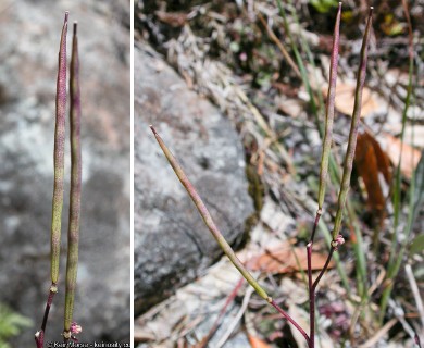
[[353,104],[352,121],[350,124],[348,149],[346,151],[344,174],[341,177],[340,192],[338,196],[337,213],[336,213],[336,219],[334,222],[334,228],[332,233],[333,240],[336,240],[340,232],[342,210],[345,208],[346,198],[348,196],[348,190],[350,186],[350,174],[352,172],[354,150],[357,147],[357,138],[358,138],[358,126],[361,117],[362,90],[365,84],[366,61],[367,61],[369,42],[371,36],[371,25],[373,21],[373,10],[374,8],[370,8],[370,14],[366,23],[365,34],[362,40],[360,66],[358,71],[357,88],[354,91],[354,104]]

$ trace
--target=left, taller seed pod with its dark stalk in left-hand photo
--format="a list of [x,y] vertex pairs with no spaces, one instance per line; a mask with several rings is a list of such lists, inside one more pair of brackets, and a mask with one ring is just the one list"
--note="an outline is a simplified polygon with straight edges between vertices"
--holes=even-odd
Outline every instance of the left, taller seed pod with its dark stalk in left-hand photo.
[[43,347],[47,321],[50,307],[55,293],[58,293],[61,221],[63,208],[63,175],[64,175],[64,147],[65,147],[65,112],[66,112],[66,33],[68,12],[65,12],[61,42],[59,48],[59,69],[55,97],[55,129],[54,129],[54,186],[51,217],[51,285],[46,302],[41,328],[35,334],[37,348]]

